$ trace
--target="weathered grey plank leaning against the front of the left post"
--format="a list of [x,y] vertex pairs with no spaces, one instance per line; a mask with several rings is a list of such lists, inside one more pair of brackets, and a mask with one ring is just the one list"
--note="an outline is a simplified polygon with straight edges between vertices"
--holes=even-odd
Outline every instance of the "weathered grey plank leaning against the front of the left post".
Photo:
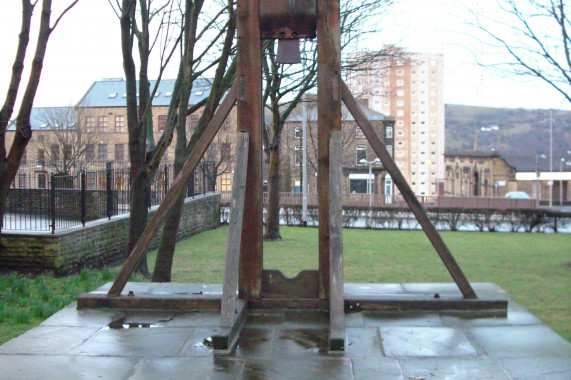
[[248,171],[248,134],[240,132],[236,143],[236,164],[230,201],[230,222],[226,241],[226,259],[224,283],[222,284],[222,306],[220,309],[220,327],[234,324],[236,295],[238,291],[238,264],[240,261],[240,240],[242,239],[242,221],[244,216],[244,195],[246,191],[246,173]]

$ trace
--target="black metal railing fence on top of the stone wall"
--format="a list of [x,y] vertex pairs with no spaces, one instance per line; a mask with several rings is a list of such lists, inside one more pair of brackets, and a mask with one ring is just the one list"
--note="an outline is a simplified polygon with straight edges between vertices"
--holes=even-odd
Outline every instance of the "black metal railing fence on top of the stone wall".
[[[172,164],[152,178],[149,208],[159,205],[173,181]],[[201,162],[189,182],[187,196],[214,191],[215,165]],[[114,167],[49,173],[41,165],[18,171],[6,201],[2,230],[51,231],[127,214],[131,204],[131,169]]]

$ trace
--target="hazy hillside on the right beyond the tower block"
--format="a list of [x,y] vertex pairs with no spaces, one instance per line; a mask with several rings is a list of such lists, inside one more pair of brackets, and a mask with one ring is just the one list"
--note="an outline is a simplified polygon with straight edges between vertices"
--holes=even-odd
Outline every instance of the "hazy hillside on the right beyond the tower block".
[[[473,149],[502,155],[549,154],[549,110],[446,104],[446,150]],[[553,158],[571,150],[571,111],[553,110]]]

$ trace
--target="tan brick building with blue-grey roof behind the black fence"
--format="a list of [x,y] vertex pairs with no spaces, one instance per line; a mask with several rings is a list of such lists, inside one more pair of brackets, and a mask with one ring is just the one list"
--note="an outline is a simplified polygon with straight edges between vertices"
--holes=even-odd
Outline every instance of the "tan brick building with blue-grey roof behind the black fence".
[[[174,80],[162,80],[153,99],[151,112],[155,142],[158,141],[165,128],[174,82]],[[151,89],[154,84],[154,81],[150,81]],[[210,83],[208,80],[199,79],[195,81],[189,105],[196,104],[206,98],[209,91]],[[187,117],[188,137],[196,126],[201,112],[202,110],[199,109]],[[57,120],[64,114],[66,115],[66,125],[62,128],[62,122]],[[75,107],[34,108],[30,123],[33,136],[26,148],[21,170],[66,171],[62,170],[62,161],[76,154],[81,157],[73,162],[73,165],[76,166],[75,169],[100,169],[105,167],[108,162],[111,162],[115,167],[128,165],[126,93],[125,81],[121,78],[94,82]],[[199,174],[210,172],[208,175],[213,177],[214,170],[212,168],[215,167],[216,188],[221,190],[231,189],[232,155],[236,140],[236,128],[231,128],[231,125],[235,125],[235,113],[229,115],[228,120],[221,128],[221,132],[205,154],[204,161],[208,161],[207,164],[210,165],[204,164],[203,161],[200,164],[202,166],[199,165],[197,171]],[[10,134],[13,135],[15,130],[14,125],[8,128],[7,144],[11,143]],[[69,137],[69,144],[61,141],[63,134],[73,135],[73,137]],[[77,142],[77,136],[80,134],[83,135],[83,140]],[[75,144],[72,143],[74,139],[76,140]],[[165,163],[174,161],[175,141],[176,133],[163,158]],[[82,151],[78,152],[78,150]],[[205,169],[202,170],[202,168]],[[203,181],[200,175],[195,176],[195,181],[197,188],[201,188],[203,183],[208,182]]]

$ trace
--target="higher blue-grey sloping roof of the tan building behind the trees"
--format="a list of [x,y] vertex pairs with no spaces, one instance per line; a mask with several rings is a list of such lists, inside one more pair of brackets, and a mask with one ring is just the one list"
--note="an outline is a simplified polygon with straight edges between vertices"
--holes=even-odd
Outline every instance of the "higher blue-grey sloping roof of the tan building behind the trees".
[[[153,90],[156,81],[151,80],[150,91]],[[162,79],[153,99],[153,106],[168,106],[172,99],[175,79]],[[188,104],[196,104],[210,94],[210,80],[199,78],[194,81],[192,93]],[[137,90],[139,82],[137,81]],[[125,107],[127,93],[123,78],[105,78],[94,82],[87,93],[79,101],[78,106],[83,107]]]

